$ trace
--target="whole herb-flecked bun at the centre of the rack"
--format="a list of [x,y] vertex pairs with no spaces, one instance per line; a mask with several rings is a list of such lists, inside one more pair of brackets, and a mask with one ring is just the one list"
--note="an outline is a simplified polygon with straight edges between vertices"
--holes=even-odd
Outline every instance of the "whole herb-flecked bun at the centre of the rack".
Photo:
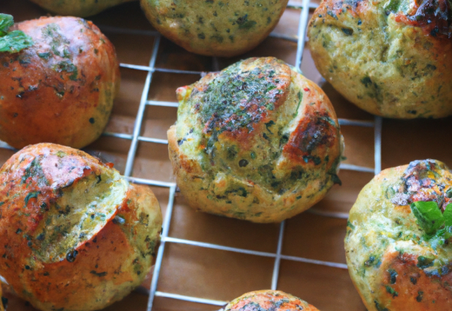
[[239,61],[177,89],[177,97],[169,158],[194,209],[283,221],[340,183],[342,136],[333,106],[283,61]]

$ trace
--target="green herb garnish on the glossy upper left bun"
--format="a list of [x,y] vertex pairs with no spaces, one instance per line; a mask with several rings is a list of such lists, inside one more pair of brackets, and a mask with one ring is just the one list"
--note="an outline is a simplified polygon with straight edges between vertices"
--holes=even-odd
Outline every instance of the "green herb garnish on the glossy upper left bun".
[[31,37],[22,30],[8,31],[12,25],[13,16],[0,13],[0,52],[17,53],[33,45]]

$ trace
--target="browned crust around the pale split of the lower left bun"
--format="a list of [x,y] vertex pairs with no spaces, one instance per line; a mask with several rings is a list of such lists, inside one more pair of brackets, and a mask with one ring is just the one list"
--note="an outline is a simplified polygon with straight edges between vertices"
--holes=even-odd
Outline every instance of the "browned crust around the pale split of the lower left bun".
[[[66,165],[52,170],[49,149],[65,152]],[[26,167],[39,155],[44,155],[42,168],[51,185],[46,186],[39,177],[29,177],[26,184],[21,183]],[[129,185],[126,197],[115,213],[124,219],[124,223],[119,225],[112,216],[97,234],[76,247],[78,254],[73,262],[40,262],[28,245],[30,241],[23,238],[34,235],[43,221],[42,204],[49,206],[59,195],[55,189],[76,184],[86,175],[99,172],[100,166],[111,168],[112,163],[101,163],[73,148],[41,143],[16,153],[0,169],[0,202],[5,202],[0,206],[0,240],[3,243],[0,274],[20,298],[41,310],[106,307],[130,293],[150,270],[148,257],[155,257],[157,250],[153,243],[159,239],[160,228],[156,236],[146,236],[147,230],[152,228],[141,227],[143,212],[138,211],[143,206],[156,211],[157,226],[161,226],[162,216],[155,195],[145,186]],[[25,195],[37,191],[39,196],[29,199],[24,206]],[[8,199],[14,195],[14,199]],[[17,228],[23,228],[20,234]]]

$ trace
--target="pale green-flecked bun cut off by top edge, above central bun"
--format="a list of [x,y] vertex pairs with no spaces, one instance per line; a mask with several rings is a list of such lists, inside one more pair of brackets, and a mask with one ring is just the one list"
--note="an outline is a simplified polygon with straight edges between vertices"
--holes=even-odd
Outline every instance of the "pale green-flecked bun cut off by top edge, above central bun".
[[288,0],[141,0],[150,23],[189,52],[232,57],[261,43]]

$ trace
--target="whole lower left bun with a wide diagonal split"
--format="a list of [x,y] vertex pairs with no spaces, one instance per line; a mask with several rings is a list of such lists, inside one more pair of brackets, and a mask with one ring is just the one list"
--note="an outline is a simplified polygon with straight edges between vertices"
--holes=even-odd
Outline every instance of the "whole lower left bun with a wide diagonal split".
[[0,168],[0,275],[44,311],[99,310],[150,271],[162,214],[112,163],[52,143]]

